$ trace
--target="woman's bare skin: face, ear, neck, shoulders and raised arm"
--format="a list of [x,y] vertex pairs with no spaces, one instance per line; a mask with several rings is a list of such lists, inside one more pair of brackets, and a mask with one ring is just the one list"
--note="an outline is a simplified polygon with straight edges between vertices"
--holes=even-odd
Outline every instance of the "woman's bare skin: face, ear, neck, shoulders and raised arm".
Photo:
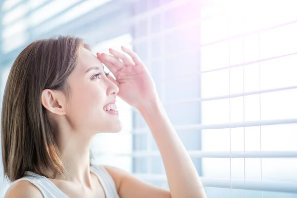
[[[122,47],[124,53],[110,49],[94,56],[82,49],[79,61],[68,78],[71,89],[67,100],[62,92],[44,90],[42,104],[48,109],[52,125],[58,132],[58,147],[66,164],[64,177],[50,179],[71,198],[104,198],[99,180],[90,173],[90,147],[95,134],[119,132],[118,115],[103,107],[119,96],[136,107],[146,122],[160,150],[170,191],[148,185],[131,174],[106,166],[121,198],[206,198],[198,173],[175,129],[170,123],[146,66],[137,54]],[[122,61],[120,61],[121,59]],[[106,76],[102,63],[115,75]],[[86,71],[90,67],[92,70]],[[102,75],[97,75],[102,72]],[[5,198],[42,198],[28,181],[20,181]]]

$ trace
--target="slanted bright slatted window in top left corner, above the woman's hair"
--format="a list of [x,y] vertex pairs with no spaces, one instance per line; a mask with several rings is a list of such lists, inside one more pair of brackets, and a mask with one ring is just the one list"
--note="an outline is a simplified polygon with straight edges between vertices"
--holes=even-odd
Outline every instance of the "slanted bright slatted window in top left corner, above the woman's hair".
[[[1,50],[9,53],[20,49],[30,40],[66,25],[109,1],[4,0],[0,10]],[[54,34],[61,34],[61,30]]]

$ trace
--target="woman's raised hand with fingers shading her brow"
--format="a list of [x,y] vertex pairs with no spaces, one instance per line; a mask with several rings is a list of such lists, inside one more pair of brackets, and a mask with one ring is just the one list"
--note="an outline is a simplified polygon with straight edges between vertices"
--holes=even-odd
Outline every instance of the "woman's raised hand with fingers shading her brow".
[[146,66],[136,53],[125,48],[123,50],[132,57],[133,61],[115,50],[110,50],[113,56],[102,54],[99,58],[114,74],[115,83],[119,87],[118,96],[130,105],[138,107],[156,97],[155,86]]

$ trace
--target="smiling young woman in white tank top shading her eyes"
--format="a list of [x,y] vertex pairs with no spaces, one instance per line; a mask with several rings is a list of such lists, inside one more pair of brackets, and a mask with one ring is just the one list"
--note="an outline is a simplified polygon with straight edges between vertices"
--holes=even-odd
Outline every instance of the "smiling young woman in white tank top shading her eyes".
[[[5,198],[205,198],[198,173],[137,54],[92,54],[75,37],[35,41],[14,61],[1,117]],[[104,63],[116,80],[103,71]],[[90,166],[101,132],[119,132],[116,96],[145,118],[170,191],[110,166]]]

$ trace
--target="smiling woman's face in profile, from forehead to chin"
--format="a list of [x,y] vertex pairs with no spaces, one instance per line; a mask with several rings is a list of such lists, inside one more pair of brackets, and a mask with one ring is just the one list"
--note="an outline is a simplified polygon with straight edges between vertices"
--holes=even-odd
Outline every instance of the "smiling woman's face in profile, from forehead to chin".
[[82,49],[68,84],[70,97],[65,113],[74,130],[92,134],[121,130],[118,112],[107,111],[115,107],[118,87],[108,79],[101,61],[90,50]]

